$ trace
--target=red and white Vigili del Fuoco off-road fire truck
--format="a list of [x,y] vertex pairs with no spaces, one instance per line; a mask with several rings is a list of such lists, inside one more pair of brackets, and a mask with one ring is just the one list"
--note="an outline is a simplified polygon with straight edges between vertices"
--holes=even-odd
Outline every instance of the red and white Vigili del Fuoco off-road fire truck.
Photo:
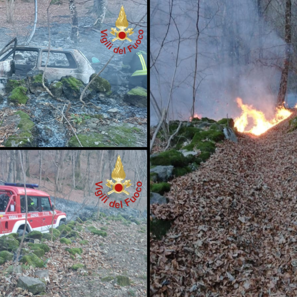
[[[27,227],[25,233],[32,231],[49,232],[66,223],[66,213],[52,210],[49,194],[36,190],[37,184],[26,184]],[[52,215],[53,221],[52,221]],[[26,220],[26,199],[24,184],[4,183],[0,185],[0,236],[10,233],[23,234]]]

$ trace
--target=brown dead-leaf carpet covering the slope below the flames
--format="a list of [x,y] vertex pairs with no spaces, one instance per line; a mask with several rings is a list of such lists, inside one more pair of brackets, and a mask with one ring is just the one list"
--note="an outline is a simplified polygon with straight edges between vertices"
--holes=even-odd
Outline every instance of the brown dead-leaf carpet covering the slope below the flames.
[[172,224],[150,239],[150,296],[297,296],[296,116],[218,144],[151,205]]

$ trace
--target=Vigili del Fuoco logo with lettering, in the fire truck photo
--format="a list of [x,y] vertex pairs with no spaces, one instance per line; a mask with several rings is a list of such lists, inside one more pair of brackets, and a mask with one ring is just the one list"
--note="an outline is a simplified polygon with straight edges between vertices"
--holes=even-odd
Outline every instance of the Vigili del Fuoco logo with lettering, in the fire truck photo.
[[[132,184],[130,183],[131,180],[125,180],[124,183],[122,183],[122,181],[125,179],[126,177],[126,173],[124,171],[124,167],[121,161],[120,156],[117,157],[116,163],[115,163],[115,167],[112,170],[111,173],[111,180],[106,180],[107,184],[105,184],[108,188],[112,188],[111,191],[109,191],[107,193],[107,195],[110,195],[111,193],[116,193],[116,194],[121,194],[124,193],[126,195],[129,195],[130,193],[126,191],[127,188],[129,188],[130,186],[132,186]],[[112,180],[114,180],[115,182],[113,182]],[[99,197],[99,199],[101,199],[101,201],[103,203],[105,203],[109,198],[107,197],[107,195],[105,195],[104,193],[102,193],[103,190],[103,186],[102,186],[102,182],[96,183],[96,186],[98,188],[96,188],[95,195],[97,197]],[[126,188],[125,188],[126,186]],[[136,192],[134,193],[134,195],[132,196],[132,198],[126,198],[124,201],[127,204],[127,206],[129,206],[129,203],[132,202],[134,203],[137,198],[139,198],[139,193],[141,192],[141,187],[142,187],[142,183],[141,182],[137,182],[136,183]],[[109,206],[110,207],[116,207],[116,208],[123,208],[123,203],[122,201],[120,202],[115,202],[114,201],[110,201],[109,202]]]

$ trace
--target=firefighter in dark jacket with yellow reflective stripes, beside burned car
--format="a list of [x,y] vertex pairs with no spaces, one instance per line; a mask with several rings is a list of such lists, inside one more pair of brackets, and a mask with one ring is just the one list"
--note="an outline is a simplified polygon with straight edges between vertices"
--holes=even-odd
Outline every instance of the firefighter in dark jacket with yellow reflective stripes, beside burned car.
[[139,50],[129,52],[122,61],[122,69],[133,72],[129,79],[129,89],[137,86],[147,89],[147,52]]

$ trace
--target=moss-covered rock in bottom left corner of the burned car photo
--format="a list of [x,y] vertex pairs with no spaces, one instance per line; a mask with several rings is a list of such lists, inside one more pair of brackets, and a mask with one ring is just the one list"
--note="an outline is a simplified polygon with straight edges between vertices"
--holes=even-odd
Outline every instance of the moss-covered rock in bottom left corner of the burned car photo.
[[8,139],[3,143],[5,147],[35,147],[35,140],[32,138],[34,132],[33,127],[35,124],[30,120],[30,117],[27,113],[19,110],[14,113],[14,116],[19,116],[20,121],[17,127],[19,130],[16,134],[8,137]]

